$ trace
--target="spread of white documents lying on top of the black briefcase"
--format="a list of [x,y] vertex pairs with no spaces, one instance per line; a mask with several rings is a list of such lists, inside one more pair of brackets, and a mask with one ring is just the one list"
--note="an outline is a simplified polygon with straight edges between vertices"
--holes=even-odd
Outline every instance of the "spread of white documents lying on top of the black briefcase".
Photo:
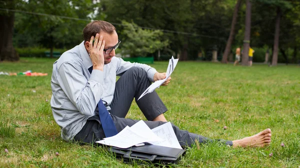
[[125,127],[117,135],[104,138],[96,143],[123,149],[141,143],[182,149],[170,122],[150,130],[150,128],[142,120],[131,127]]

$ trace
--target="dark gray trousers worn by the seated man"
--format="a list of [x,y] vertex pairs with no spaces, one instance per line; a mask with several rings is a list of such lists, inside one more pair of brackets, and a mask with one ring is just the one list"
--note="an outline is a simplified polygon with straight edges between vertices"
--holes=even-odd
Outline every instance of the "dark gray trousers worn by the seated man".
[[[146,72],[137,67],[128,69],[117,80],[113,100],[110,105],[110,116],[118,132],[123,130],[126,126],[131,127],[138,122],[138,120],[125,119],[124,117],[128,113],[133,98],[135,98],[136,101],[142,92],[150,86],[150,84],[151,82],[147,79]],[[160,121],[151,121],[158,115],[167,111],[155,91],[144,95],[136,101],[136,104],[146,119],[150,120],[144,121],[150,129],[165,123]],[[212,142],[212,140],[206,137],[180,130],[173,124],[172,127],[181,146],[190,147],[194,140],[197,140],[199,143]],[[90,144],[95,141],[102,140],[103,138],[105,138],[105,136],[100,125],[99,116],[92,116],[87,120],[81,131],[74,137],[74,141]],[[217,141],[222,141],[225,144],[232,146],[232,141]]]

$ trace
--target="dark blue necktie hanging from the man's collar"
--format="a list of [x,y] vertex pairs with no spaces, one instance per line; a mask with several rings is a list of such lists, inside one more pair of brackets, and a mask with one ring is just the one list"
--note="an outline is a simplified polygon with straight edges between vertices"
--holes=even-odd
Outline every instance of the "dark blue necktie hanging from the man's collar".
[[[92,66],[90,68],[88,68],[89,73],[91,74],[92,71]],[[113,124],[113,121],[106,109],[106,107],[104,106],[102,100],[100,100],[98,102],[98,111],[99,111],[99,118],[100,118],[100,122],[105,134],[105,137],[112,137],[114,135],[117,134],[116,128]]]

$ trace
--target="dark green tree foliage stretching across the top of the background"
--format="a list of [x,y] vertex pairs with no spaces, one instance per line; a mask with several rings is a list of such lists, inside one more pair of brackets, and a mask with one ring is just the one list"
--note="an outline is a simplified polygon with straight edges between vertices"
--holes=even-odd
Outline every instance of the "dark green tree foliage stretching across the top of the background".
[[[187,57],[195,59],[201,50],[202,53],[207,53],[209,59],[212,46],[217,46],[219,54],[224,50],[236,0],[14,0],[14,2],[15,6],[10,6],[11,3],[2,6],[42,13],[36,15],[15,12],[13,44],[18,48],[72,48],[82,41],[82,29],[90,19],[112,22],[122,40],[121,48],[128,38],[121,33],[127,27],[121,23],[125,20],[141,27],[170,30],[160,35],[161,43],[168,41],[168,45],[162,47],[161,55],[176,55],[187,51]],[[4,4],[3,1],[0,4]],[[293,0],[252,0],[251,46],[258,48],[265,45],[273,46],[277,7],[282,10],[279,48],[287,50],[300,46],[300,3]],[[0,10],[0,14],[9,13]],[[236,24],[237,34],[232,45],[242,45],[244,14],[245,4],[242,3]]]

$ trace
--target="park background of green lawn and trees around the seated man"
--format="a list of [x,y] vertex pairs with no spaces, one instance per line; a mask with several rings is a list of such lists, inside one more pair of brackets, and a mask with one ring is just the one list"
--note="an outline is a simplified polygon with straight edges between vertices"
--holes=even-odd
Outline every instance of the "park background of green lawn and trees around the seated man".
[[[165,60],[179,58],[170,85],[157,89],[168,121],[212,139],[272,130],[267,148],[194,146],[171,167],[300,166],[300,2],[0,0],[0,72],[48,74],[0,75],[0,167],[157,166],[122,164],[104,148],[60,138],[49,105],[52,64],[96,19],[116,27],[124,59],[151,58],[163,72]],[[253,66],[232,66],[235,48],[247,53],[248,45]],[[127,117],[144,119],[134,102]]]

